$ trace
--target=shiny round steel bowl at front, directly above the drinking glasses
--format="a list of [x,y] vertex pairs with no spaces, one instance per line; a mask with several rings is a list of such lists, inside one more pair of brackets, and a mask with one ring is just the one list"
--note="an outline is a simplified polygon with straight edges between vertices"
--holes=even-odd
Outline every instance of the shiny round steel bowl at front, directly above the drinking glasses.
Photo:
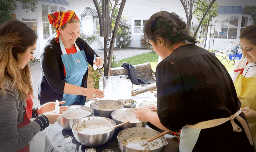
[[72,123],[72,133],[73,133],[74,137],[76,138],[76,140],[78,142],[80,142],[82,145],[85,145],[88,147],[97,147],[97,146],[103,145],[107,141],[109,141],[109,139],[113,136],[113,134],[115,132],[115,128],[109,130],[109,132],[102,133],[102,134],[82,134],[82,133],[75,131],[73,129],[73,125],[76,123],[79,123],[79,121],[80,122],[85,121],[85,123],[88,122],[88,124],[94,124],[94,123],[104,124],[104,123],[106,123],[107,120],[108,120],[108,123],[111,123],[113,126],[116,125],[115,121],[113,121],[109,118],[99,117],[99,116],[90,116],[90,117],[78,119]]

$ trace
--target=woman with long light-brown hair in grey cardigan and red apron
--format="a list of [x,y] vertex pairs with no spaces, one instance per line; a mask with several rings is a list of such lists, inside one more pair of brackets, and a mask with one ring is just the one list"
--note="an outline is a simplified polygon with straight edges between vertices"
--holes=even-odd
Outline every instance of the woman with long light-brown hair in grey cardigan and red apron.
[[[0,151],[29,152],[29,142],[66,111],[55,112],[55,103],[33,107],[28,62],[33,60],[37,35],[25,23],[0,25]],[[60,102],[64,104],[65,102]],[[36,118],[30,121],[30,118]]]

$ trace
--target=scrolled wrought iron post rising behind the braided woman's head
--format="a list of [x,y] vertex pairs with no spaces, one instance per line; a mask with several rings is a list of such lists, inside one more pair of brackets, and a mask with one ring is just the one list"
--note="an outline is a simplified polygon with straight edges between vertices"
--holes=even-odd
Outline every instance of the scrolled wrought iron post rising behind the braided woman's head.
[[[182,6],[184,7],[185,13],[186,13],[188,31],[190,31],[191,24],[193,25],[192,16],[193,16],[194,12],[196,12],[196,11],[203,12],[206,10],[206,12],[203,13],[204,15],[202,18],[200,18],[200,16],[196,17],[198,20],[200,20],[200,23],[199,23],[196,31],[193,27],[194,37],[196,36],[205,16],[209,12],[210,8],[212,7],[212,5],[214,4],[215,1],[216,0],[180,0]],[[207,3],[207,5],[205,5],[206,2],[209,2],[209,3]],[[193,6],[195,7],[194,10],[193,10]],[[188,11],[189,11],[189,13],[188,13]]]

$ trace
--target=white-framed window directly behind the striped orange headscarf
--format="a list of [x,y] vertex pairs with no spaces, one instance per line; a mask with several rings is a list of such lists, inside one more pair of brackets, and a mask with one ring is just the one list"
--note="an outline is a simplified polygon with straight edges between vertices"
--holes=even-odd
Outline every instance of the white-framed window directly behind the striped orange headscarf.
[[[43,35],[44,39],[49,38],[52,34],[56,32],[56,29],[49,24],[48,14],[57,12],[57,11],[66,11],[65,7],[50,6],[42,4],[42,19],[43,19]],[[50,26],[51,25],[51,26]]]

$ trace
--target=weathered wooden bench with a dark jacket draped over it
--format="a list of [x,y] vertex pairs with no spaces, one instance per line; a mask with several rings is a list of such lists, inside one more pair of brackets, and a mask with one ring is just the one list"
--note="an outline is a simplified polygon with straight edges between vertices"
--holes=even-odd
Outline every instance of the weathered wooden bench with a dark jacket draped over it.
[[[137,78],[145,79],[151,82],[150,84],[143,84],[139,82],[141,88],[133,89],[132,96],[136,96],[142,94],[144,92],[148,92],[156,89],[156,80],[155,80],[155,72],[152,70],[150,63],[143,63],[133,65],[137,69]],[[117,67],[110,69],[110,75],[128,75],[128,71],[124,67]],[[154,75],[153,75],[154,74]],[[128,78],[129,79],[129,76]]]

